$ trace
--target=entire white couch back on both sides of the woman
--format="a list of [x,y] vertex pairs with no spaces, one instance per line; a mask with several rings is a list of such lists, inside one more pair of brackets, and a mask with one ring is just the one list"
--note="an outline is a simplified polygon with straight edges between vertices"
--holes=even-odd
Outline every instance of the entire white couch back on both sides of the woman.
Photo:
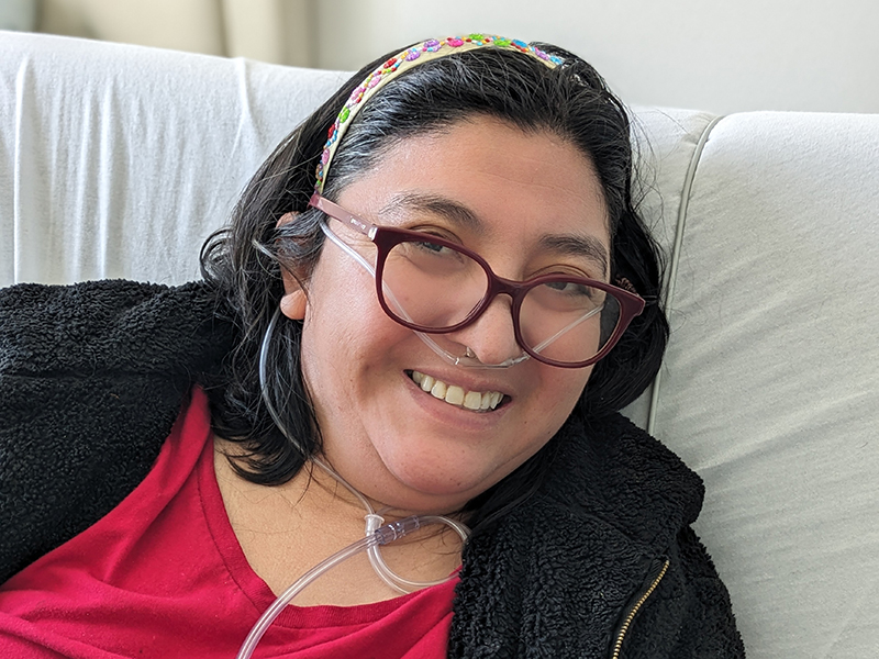
[[[0,284],[198,277],[343,79],[0,33]],[[879,657],[879,115],[635,115],[672,337],[627,412],[705,480],[749,657]]]

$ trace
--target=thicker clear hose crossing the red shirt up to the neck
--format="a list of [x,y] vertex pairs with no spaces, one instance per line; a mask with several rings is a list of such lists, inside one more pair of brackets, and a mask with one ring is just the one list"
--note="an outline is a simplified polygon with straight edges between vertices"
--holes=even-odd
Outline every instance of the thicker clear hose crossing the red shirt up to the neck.
[[422,526],[426,526],[429,524],[444,524],[447,522],[448,520],[438,515],[413,515],[411,517],[405,517],[398,522],[386,524],[385,526],[376,528],[372,530],[372,533],[360,538],[356,543],[348,545],[344,549],[341,549],[331,557],[324,559],[311,568],[308,572],[302,574],[302,577],[297,579],[296,582],[290,585],[290,588],[283,591],[278,599],[275,600],[271,606],[266,608],[265,613],[263,613],[263,615],[251,629],[247,638],[244,639],[244,643],[242,644],[238,654],[235,656],[235,659],[251,659],[257,644],[263,638],[263,635],[271,626],[271,623],[274,623],[275,619],[280,615],[281,611],[287,607],[293,597],[296,597],[309,584],[311,584],[315,579],[321,577],[331,568],[334,568],[342,561],[347,560],[360,551],[392,543],[393,540],[401,538],[413,530],[418,530]]

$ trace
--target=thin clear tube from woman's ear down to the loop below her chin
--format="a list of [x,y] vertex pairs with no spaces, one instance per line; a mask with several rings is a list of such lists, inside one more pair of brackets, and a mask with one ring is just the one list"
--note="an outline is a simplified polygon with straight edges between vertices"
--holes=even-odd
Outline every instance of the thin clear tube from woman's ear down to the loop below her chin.
[[[283,423],[278,415],[278,412],[275,410],[275,405],[271,403],[270,396],[268,395],[268,387],[266,384],[266,370],[267,370],[267,362],[268,362],[268,350],[269,345],[271,343],[271,336],[275,333],[275,326],[278,322],[278,317],[280,316],[280,308],[275,310],[275,314],[271,316],[271,321],[266,328],[266,334],[263,337],[263,344],[259,349],[259,387],[260,393],[263,396],[263,402],[266,404],[266,409],[268,410],[269,415],[271,416],[275,425],[278,429],[283,434],[288,442],[290,442],[293,446],[296,446],[302,455],[304,451],[302,450],[301,445],[299,442],[287,432]],[[330,474],[333,479],[335,479],[341,485],[343,485],[346,490],[348,490],[359,502],[363,504],[364,509],[366,509],[366,516],[364,517],[366,521],[366,529],[365,535],[366,538],[372,537],[378,530],[381,528],[381,525],[385,523],[385,520],[381,515],[377,514],[376,511],[372,509],[372,505],[369,501],[364,496],[354,485],[352,485],[348,481],[346,481],[340,473],[337,473],[332,467],[330,467],[326,462],[318,458],[316,456],[309,458],[314,465],[323,469],[327,474]],[[456,522],[455,520],[450,520],[445,516],[439,515],[431,515],[431,523],[443,523],[450,526],[460,537],[461,541],[466,543],[467,538],[470,535],[470,529],[467,528],[466,525],[461,524],[460,522]],[[392,524],[390,526],[393,526]],[[396,538],[394,538],[396,539]],[[372,569],[376,571],[376,574],[391,589],[400,592],[400,593],[410,593],[422,588],[429,588],[431,585],[437,585],[443,583],[448,578],[439,579],[436,581],[412,581],[400,577],[393,570],[391,570],[387,562],[385,562],[383,557],[381,556],[380,545],[386,543],[370,543],[366,545],[367,555],[369,557],[369,562],[372,566]],[[323,565],[323,563],[322,563]],[[335,563],[333,563],[335,565]],[[332,566],[331,566],[332,567]],[[321,572],[322,573],[322,572]],[[304,588],[304,587],[303,587]]]

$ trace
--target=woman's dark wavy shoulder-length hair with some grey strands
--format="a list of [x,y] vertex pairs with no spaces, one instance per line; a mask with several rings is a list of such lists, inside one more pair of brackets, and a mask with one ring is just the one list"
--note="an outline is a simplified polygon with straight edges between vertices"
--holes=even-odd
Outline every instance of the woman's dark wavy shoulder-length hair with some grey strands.
[[[493,47],[454,53],[415,66],[385,86],[352,122],[335,154],[324,194],[333,200],[392,146],[474,116],[494,118],[522,131],[549,132],[575,145],[598,174],[610,217],[611,278],[627,279],[648,304],[620,343],[592,371],[577,413],[593,422],[630,402],[652,381],[668,340],[668,323],[656,303],[660,267],[656,244],[633,200],[633,149],[626,109],[604,80],[579,57],[537,44],[564,64],[549,68],[520,53]],[[281,269],[307,283],[320,256],[322,213],[308,206],[314,168],[327,129],[352,91],[391,53],[365,66],[299,125],[263,164],[241,196],[231,224],[202,248],[205,280],[237,327],[236,348],[224,380],[212,388],[215,432],[243,443],[233,461],[244,478],[279,484],[321,450],[299,362],[302,323],[286,317],[276,327],[267,361],[267,394],[293,446],[275,426],[262,398],[258,355],[283,294]],[[299,213],[278,227],[283,214]],[[301,448],[301,450],[300,450]],[[553,442],[515,472],[467,506],[470,522],[494,520],[541,484]]]

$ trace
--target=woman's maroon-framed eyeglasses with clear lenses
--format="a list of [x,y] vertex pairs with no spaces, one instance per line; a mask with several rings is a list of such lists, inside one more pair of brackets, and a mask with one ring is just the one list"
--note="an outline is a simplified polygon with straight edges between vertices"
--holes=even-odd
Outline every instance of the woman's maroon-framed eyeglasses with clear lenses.
[[553,273],[522,282],[503,279],[481,256],[461,245],[423,232],[365,222],[318,192],[309,205],[375,244],[378,256],[372,268],[324,230],[375,275],[385,313],[419,333],[463,330],[503,293],[512,299],[515,340],[527,355],[550,366],[582,368],[604,357],[644,310],[644,300],[634,292],[583,277]]

